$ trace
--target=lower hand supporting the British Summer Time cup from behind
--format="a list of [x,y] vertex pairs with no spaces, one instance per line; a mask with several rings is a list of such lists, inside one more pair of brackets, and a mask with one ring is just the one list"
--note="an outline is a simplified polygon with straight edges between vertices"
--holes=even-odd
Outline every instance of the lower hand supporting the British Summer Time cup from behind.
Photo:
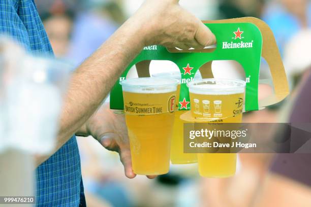
[[[125,115],[115,114],[109,109],[109,103],[104,103],[85,123],[85,130],[107,150],[118,152],[125,168],[125,175],[128,178],[135,178]],[[156,176],[147,177],[153,179]]]

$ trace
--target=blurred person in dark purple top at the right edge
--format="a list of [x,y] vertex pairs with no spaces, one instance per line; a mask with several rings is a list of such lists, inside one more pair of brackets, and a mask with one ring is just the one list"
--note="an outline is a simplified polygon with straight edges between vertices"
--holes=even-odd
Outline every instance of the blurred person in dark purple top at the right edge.
[[[305,77],[297,91],[289,123],[308,129],[284,131],[290,139],[304,139],[299,150],[306,153],[277,154],[270,166],[269,174],[260,186],[257,206],[311,206],[311,74]],[[301,125],[303,124],[303,125]],[[289,134],[288,134],[289,133]],[[298,150],[298,151],[299,151]],[[278,197],[279,199],[275,199]]]

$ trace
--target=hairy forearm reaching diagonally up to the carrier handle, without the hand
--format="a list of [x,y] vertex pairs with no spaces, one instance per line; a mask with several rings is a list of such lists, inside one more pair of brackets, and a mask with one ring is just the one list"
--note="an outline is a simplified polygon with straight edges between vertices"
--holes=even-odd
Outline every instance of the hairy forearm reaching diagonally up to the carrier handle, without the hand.
[[[63,111],[55,151],[97,110],[114,83],[144,46],[145,34],[138,21],[129,19],[73,73]],[[85,134],[86,135],[86,134]],[[38,164],[48,157],[41,157]]]

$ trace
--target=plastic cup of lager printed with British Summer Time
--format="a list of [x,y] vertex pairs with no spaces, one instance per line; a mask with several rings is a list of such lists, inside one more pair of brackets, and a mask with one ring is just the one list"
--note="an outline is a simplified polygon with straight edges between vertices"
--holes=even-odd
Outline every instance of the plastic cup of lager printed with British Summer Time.
[[135,174],[169,171],[178,81],[135,78],[121,81]]

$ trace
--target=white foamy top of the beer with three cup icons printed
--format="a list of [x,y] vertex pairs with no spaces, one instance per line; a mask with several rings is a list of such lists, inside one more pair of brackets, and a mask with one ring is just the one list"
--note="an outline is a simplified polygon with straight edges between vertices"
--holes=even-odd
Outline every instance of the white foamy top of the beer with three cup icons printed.
[[239,85],[232,85],[220,82],[216,84],[191,84],[189,85],[189,92],[203,95],[229,95],[236,93],[244,93],[245,83],[240,82]]

